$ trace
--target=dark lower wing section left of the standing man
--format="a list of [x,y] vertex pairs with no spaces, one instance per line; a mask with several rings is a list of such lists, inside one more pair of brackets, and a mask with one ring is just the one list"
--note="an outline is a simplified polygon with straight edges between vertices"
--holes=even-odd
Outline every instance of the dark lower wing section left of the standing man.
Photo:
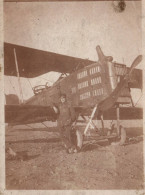
[[5,123],[29,124],[56,121],[57,114],[50,106],[5,105]]

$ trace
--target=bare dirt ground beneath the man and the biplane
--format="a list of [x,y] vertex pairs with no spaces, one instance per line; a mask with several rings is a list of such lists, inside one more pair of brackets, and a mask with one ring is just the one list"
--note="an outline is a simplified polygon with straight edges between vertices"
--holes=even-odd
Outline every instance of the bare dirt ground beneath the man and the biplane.
[[142,128],[126,130],[136,140],[125,146],[88,142],[67,154],[56,127],[6,128],[6,150],[16,152],[6,152],[6,189],[143,189]]

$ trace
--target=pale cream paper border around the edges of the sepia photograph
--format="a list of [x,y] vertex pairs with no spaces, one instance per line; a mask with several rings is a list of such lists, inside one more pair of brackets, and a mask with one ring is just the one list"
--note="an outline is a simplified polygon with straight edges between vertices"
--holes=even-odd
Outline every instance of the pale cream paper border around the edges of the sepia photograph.
[[[144,195],[145,190],[5,190],[5,123],[4,123],[4,62],[3,62],[3,1],[0,0],[0,195]],[[142,0],[142,53],[145,54],[145,1]],[[145,55],[143,55],[143,100],[145,99]],[[143,103],[143,113],[145,102]],[[145,140],[145,117],[143,114]],[[145,167],[145,143],[144,143]],[[145,175],[145,168],[144,168]],[[145,184],[145,178],[144,178]],[[145,186],[145,185],[144,185]]]

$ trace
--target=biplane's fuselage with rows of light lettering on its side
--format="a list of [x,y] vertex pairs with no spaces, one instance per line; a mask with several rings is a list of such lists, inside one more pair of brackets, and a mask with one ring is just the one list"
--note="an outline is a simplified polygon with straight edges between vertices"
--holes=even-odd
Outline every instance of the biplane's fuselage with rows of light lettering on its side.
[[[125,65],[110,61],[96,62],[45,88],[30,98],[26,104],[42,106],[58,104],[60,94],[65,93],[74,107],[93,107],[111,94],[126,71]],[[122,91],[118,102],[130,102],[128,87]]]

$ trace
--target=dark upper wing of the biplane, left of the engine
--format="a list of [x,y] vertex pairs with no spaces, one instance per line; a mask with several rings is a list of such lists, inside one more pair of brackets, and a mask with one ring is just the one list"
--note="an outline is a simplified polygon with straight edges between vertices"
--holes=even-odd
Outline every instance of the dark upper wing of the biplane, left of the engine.
[[80,68],[94,63],[91,60],[4,43],[5,75],[17,76],[14,48],[16,50],[20,77],[33,78],[49,71],[71,73],[78,67]]

